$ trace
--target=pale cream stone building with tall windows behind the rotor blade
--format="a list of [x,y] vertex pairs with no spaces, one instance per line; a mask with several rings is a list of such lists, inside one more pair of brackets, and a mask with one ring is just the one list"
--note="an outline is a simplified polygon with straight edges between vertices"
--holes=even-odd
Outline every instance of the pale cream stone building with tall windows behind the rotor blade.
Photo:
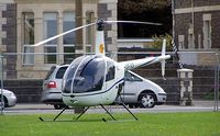
[[[40,41],[97,19],[117,20],[118,0],[80,0],[81,16],[76,14],[77,0],[1,0],[0,52],[4,56],[6,79],[43,79],[56,64],[69,63],[74,53],[94,52],[96,26],[82,30],[81,47],[76,46],[76,33],[30,47]],[[79,1],[79,0],[78,0]],[[116,52],[117,25],[106,30],[109,52]]]

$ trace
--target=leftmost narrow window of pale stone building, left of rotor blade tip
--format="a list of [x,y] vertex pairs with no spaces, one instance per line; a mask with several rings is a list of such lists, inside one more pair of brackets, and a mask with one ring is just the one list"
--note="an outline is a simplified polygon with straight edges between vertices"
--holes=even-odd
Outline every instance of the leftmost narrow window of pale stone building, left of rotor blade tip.
[[34,44],[34,13],[33,12],[23,12],[22,13],[22,23],[23,23],[23,65],[33,65],[34,64],[34,47],[30,45]]

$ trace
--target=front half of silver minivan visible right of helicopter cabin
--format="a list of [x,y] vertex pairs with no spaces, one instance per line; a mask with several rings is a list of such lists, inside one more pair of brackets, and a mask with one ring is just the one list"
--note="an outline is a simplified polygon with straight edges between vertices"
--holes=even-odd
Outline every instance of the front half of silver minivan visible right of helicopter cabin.
[[166,92],[158,84],[132,71],[125,72],[121,99],[130,107],[154,107],[164,104],[166,98]]

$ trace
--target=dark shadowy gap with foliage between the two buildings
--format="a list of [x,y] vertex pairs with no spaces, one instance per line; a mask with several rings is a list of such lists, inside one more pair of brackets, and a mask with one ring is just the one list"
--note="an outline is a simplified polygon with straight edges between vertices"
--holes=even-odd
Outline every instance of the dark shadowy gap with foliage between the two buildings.
[[143,24],[119,24],[119,37],[152,37],[152,35],[170,34],[170,0],[119,0],[119,20],[135,20],[162,23],[162,26]]

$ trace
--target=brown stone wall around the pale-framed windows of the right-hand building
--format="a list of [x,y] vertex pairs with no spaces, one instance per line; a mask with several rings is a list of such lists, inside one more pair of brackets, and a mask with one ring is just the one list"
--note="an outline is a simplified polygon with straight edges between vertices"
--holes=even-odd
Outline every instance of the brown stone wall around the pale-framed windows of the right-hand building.
[[[184,46],[188,48],[188,32],[193,29],[194,16],[194,36],[195,48],[204,48],[204,14],[211,16],[211,48],[220,48],[218,35],[220,32],[220,1],[219,0],[191,0],[175,1],[175,43],[178,45],[178,36],[185,36]],[[199,45],[200,43],[200,45]],[[199,47],[200,46],[200,47]],[[194,48],[189,48],[194,49]]]

